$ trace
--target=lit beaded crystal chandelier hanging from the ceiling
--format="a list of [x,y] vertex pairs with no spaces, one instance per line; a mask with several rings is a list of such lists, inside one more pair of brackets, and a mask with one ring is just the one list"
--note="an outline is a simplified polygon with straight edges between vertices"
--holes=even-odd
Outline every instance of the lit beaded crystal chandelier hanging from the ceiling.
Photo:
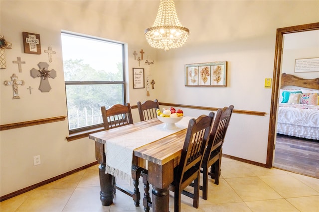
[[160,7],[153,26],[145,30],[150,46],[168,51],[181,47],[187,40],[189,29],[178,20],[173,0],[160,0]]

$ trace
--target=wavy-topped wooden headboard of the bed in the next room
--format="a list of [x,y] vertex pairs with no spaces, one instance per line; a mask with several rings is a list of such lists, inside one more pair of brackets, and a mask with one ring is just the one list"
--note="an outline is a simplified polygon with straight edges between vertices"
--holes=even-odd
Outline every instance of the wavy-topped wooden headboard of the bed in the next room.
[[314,79],[303,79],[292,74],[281,74],[281,87],[285,85],[294,85],[319,90],[319,77]]

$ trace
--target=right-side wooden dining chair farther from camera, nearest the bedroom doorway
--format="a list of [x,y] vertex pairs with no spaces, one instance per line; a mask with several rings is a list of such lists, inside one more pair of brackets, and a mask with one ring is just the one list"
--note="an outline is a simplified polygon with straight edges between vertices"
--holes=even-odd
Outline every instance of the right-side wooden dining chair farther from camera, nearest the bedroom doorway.
[[[219,184],[220,166],[222,158],[222,145],[224,143],[226,131],[229,125],[234,106],[218,109],[215,120],[212,124],[207,149],[202,162],[203,186],[200,190],[203,191],[203,199],[208,198],[208,175],[214,179],[215,184]],[[210,170],[209,170],[210,169]]]

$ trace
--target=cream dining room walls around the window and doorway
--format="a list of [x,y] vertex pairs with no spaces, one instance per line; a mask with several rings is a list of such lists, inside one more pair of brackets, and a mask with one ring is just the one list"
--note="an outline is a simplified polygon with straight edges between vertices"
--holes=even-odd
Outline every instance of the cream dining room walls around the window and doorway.
[[[147,44],[144,30],[151,27],[158,1],[0,1],[1,35],[13,48],[6,50],[7,69],[1,70],[1,125],[67,115],[61,54],[61,30],[68,30],[127,43],[128,101],[158,98],[160,102],[223,107],[266,112],[265,117],[234,114],[224,153],[265,163],[268,141],[271,89],[265,78],[273,75],[276,29],[319,21],[318,1],[176,1],[181,23],[190,30],[186,44],[168,52]],[[303,15],[299,14],[302,11]],[[41,55],[24,54],[22,32],[40,34]],[[37,90],[39,79],[29,71],[47,62],[49,46],[57,52],[50,69],[52,90]],[[155,60],[150,80],[155,89],[133,89],[133,52],[141,49]],[[21,57],[22,72],[12,64]],[[184,65],[228,61],[227,87],[185,87]],[[147,70],[147,66],[141,65]],[[21,99],[12,99],[12,87],[5,86],[12,73],[24,80]],[[31,86],[32,94],[26,88]],[[185,109],[188,115],[208,111]],[[137,121],[137,111],[135,120]],[[67,142],[67,121],[0,131],[1,196],[25,188],[95,161],[94,142]],[[33,166],[33,156],[41,164]],[[21,177],[23,176],[23,177]]]

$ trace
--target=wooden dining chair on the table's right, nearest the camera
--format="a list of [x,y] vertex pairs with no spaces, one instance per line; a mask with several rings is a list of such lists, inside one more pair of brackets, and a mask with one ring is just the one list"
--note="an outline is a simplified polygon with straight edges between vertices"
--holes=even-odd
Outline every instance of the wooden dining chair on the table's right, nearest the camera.
[[[211,112],[208,116],[201,115],[197,119],[193,118],[189,120],[180,161],[174,168],[174,179],[169,185],[169,190],[174,192],[174,212],[180,212],[181,194],[193,198],[193,207],[198,208],[200,167],[207,147],[207,140],[214,115],[214,112]],[[146,193],[148,193],[149,189],[147,174],[147,170],[142,171]],[[193,194],[183,191],[192,181],[194,181]],[[149,194],[144,194],[144,197],[144,211],[148,212],[150,207],[152,207],[152,202]]]

